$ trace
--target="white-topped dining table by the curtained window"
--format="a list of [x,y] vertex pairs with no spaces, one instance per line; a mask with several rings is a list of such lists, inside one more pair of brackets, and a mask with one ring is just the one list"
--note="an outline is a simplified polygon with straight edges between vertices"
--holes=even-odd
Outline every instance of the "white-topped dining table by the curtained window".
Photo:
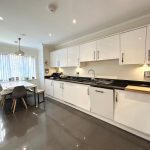
[[37,107],[37,103],[36,103],[37,85],[36,84],[27,81],[8,81],[8,82],[0,82],[0,86],[1,86],[0,96],[3,96],[7,93],[11,93],[16,86],[24,86],[26,89],[33,89],[34,106]]

